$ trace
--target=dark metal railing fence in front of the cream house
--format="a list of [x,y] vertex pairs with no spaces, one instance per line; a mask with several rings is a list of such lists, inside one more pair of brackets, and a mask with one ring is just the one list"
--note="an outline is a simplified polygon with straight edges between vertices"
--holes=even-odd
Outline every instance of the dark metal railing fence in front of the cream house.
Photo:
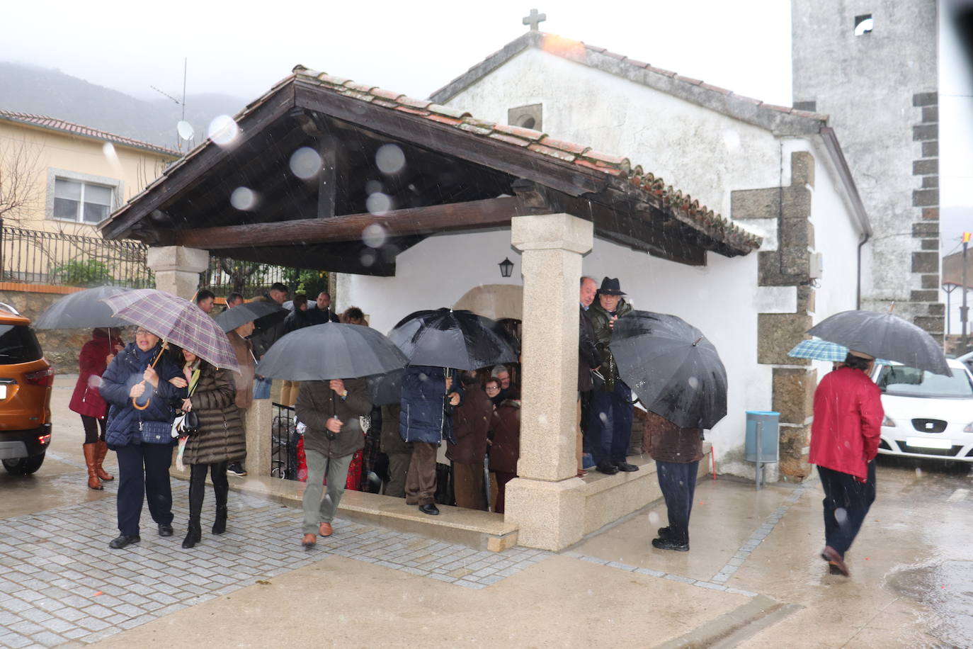
[[[0,221],[2,223],[2,221]],[[63,286],[151,288],[148,246],[96,236],[0,228],[0,280]]]

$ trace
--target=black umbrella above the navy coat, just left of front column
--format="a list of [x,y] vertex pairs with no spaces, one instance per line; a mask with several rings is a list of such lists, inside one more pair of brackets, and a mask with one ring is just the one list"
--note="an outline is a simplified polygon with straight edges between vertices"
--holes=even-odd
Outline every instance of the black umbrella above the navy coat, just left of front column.
[[410,365],[479,370],[516,363],[516,342],[495,321],[472,311],[415,311],[388,333]]

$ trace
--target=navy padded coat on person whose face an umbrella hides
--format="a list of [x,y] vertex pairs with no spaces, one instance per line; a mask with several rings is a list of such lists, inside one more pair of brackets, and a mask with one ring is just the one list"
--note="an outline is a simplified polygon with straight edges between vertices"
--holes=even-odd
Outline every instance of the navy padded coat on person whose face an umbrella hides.
[[[402,387],[402,412],[399,414],[399,435],[406,442],[439,444],[443,439],[456,443],[452,435],[452,415],[447,415],[446,372],[443,368],[410,365],[399,383]],[[451,393],[457,393],[462,403],[463,387],[453,377]]]

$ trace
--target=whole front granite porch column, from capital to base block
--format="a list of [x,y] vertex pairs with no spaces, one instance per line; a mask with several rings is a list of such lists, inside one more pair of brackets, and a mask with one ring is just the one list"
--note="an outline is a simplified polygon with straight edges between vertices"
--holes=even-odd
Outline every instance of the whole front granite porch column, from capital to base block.
[[521,545],[559,550],[583,534],[575,478],[578,281],[593,226],[569,214],[514,217],[511,240],[523,251],[521,458],[507,485],[506,514]]

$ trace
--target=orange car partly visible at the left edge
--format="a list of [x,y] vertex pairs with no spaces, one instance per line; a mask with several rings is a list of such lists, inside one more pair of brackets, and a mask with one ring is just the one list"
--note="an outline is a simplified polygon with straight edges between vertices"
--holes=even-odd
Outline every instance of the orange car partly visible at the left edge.
[[54,370],[30,320],[0,303],[0,460],[8,472],[34,473],[51,445]]

